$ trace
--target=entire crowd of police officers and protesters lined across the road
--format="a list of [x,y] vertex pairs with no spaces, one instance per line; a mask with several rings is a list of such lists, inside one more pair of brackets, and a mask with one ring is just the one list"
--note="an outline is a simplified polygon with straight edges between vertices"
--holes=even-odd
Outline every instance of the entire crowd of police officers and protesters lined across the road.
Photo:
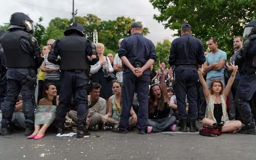
[[[256,21],[234,38],[229,60],[218,41],[192,36],[182,24],[181,37],[172,41],[159,69],[152,41],[134,22],[131,36],[118,41],[116,55],[104,56],[104,44],[84,37],[72,23],[64,37],[47,41],[40,51],[33,21],[16,12],[10,28],[0,32],[0,135],[25,129],[27,138],[42,139],[46,130],[63,134],[76,126],[77,137],[89,130],[139,134],[163,131],[256,134]],[[196,120],[202,121],[199,130]],[[69,121],[69,122],[68,122]]]

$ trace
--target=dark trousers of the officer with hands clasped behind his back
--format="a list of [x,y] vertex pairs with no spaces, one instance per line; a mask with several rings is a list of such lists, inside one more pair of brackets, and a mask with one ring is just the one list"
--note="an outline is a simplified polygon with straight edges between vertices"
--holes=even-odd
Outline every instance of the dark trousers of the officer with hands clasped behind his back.
[[138,93],[138,130],[146,130],[148,127],[148,94],[149,75],[136,77],[132,72],[123,73],[122,83],[122,113],[120,116],[119,130],[126,131],[129,127],[130,109],[135,89]]

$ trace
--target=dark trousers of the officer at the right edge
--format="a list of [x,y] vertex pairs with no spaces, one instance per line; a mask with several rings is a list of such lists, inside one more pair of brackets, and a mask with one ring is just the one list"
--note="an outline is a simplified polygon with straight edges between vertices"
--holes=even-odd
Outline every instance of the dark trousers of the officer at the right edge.
[[[249,101],[256,93],[256,74],[244,74],[240,76],[240,81],[236,91],[235,101],[242,123],[254,122]],[[254,103],[254,106],[256,104]]]

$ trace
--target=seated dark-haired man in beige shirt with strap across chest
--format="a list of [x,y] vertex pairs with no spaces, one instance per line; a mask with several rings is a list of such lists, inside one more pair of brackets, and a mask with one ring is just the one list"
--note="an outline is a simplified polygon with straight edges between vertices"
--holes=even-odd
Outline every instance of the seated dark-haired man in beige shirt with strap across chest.
[[[99,124],[102,124],[102,118],[106,115],[106,100],[100,97],[101,86],[99,83],[92,83],[90,95],[88,95],[88,115],[86,119],[86,126],[92,130],[99,130]],[[70,117],[76,124],[77,111],[69,111]]]

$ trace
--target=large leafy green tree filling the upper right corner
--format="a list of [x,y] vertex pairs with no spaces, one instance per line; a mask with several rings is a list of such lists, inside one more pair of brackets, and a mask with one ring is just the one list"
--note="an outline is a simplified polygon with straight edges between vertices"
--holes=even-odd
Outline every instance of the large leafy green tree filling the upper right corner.
[[[185,22],[193,36],[203,42],[216,38],[218,46],[231,53],[232,39],[243,34],[244,26],[256,18],[256,3],[250,0],[150,0],[160,15],[154,19],[165,28],[177,29]],[[176,36],[175,35],[175,36]],[[206,43],[204,43],[206,48]]]

